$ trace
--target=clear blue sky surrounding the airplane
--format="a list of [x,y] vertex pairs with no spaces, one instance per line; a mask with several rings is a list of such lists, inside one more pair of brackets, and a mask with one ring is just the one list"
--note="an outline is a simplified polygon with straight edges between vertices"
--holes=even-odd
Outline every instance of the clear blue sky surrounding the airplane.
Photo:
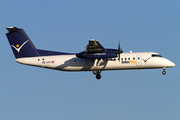
[[[4,0],[0,4],[1,120],[180,119],[179,0]],[[124,52],[158,52],[167,69],[62,72],[15,62],[5,27],[40,49],[81,52],[89,39]]]

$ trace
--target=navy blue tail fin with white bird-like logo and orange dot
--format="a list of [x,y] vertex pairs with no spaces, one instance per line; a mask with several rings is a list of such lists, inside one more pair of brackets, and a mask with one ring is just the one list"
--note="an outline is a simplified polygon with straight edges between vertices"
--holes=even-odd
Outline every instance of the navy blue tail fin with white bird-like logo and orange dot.
[[40,56],[36,47],[23,29],[7,27],[9,33],[6,34],[15,58]]

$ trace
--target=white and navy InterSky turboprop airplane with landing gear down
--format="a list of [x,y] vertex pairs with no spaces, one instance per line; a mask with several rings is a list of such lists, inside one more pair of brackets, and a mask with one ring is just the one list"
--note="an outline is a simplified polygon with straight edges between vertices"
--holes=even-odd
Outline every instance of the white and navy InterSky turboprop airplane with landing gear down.
[[6,34],[18,63],[61,71],[93,71],[97,79],[105,70],[155,69],[175,64],[156,52],[123,53],[118,49],[105,49],[98,40],[89,40],[86,50],[77,54],[36,49],[21,28],[7,27]]

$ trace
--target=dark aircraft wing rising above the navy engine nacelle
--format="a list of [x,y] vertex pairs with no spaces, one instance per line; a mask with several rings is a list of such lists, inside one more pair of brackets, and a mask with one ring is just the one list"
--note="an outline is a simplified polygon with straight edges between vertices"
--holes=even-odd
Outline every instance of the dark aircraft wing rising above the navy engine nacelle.
[[89,40],[89,44],[86,47],[86,52],[102,52],[105,51],[104,47],[98,42],[98,40]]

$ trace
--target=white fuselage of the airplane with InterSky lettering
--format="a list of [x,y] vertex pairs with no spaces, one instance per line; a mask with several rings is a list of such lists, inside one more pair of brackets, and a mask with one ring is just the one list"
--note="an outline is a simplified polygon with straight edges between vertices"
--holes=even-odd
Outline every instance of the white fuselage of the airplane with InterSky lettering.
[[54,55],[18,58],[21,64],[62,71],[93,71],[123,69],[153,69],[173,67],[175,64],[164,57],[156,57],[154,52],[122,53],[119,57],[108,59],[80,59],[76,55]]

